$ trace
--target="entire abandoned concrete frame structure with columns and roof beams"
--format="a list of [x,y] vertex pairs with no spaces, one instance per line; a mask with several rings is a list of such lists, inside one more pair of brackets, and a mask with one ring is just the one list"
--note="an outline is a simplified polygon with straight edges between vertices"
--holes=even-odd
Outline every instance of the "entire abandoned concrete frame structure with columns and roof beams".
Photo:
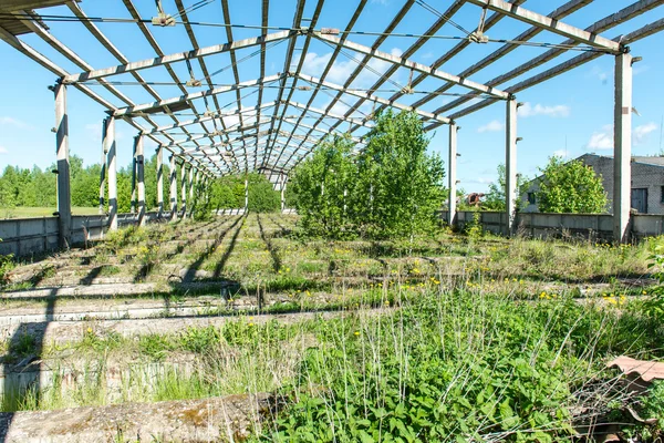
[[[90,18],[83,11],[77,1],[68,0],[6,0],[0,4],[0,39],[12,45],[15,50],[22,52],[37,63],[58,75],[58,83],[52,86],[55,95],[55,117],[56,127],[54,130],[56,137],[58,154],[58,214],[60,220],[61,245],[69,244],[69,229],[71,226],[71,198],[70,198],[70,176],[69,176],[69,141],[68,141],[68,110],[66,92],[69,87],[76,87],[84,94],[104,106],[108,116],[104,121],[103,137],[103,164],[108,173],[108,196],[110,196],[110,219],[111,229],[117,228],[117,190],[116,190],[116,143],[115,143],[115,121],[122,119],[134,126],[137,135],[134,143],[135,158],[135,181],[134,189],[137,190],[137,210],[139,214],[138,223],[144,223],[145,215],[145,184],[143,158],[144,137],[149,137],[158,145],[158,206],[159,212],[164,210],[163,192],[163,155],[164,151],[170,152],[170,177],[169,177],[169,199],[170,217],[177,217],[178,196],[176,185],[176,162],[181,167],[181,193],[180,203],[183,214],[186,215],[187,196],[194,196],[194,182],[200,178],[201,182],[225,174],[241,174],[249,171],[262,172],[270,176],[273,183],[281,189],[283,207],[283,189],[287,177],[309,153],[315,147],[318,141],[326,134],[351,135],[359,146],[362,145],[362,132],[372,127],[371,120],[375,112],[383,109],[393,107],[396,110],[409,110],[419,115],[427,131],[434,130],[440,125],[449,126],[449,158],[448,158],[448,183],[450,195],[456,195],[456,157],[457,157],[457,132],[458,120],[475,111],[484,109],[497,101],[502,101],[506,109],[506,145],[505,162],[507,169],[506,177],[506,207],[507,226],[506,233],[509,235],[515,229],[516,195],[517,183],[517,143],[520,140],[517,132],[517,111],[519,103],[516,94],[528,87],[538,85],[553,76],[560,75],[569,70],[588,63],[603,55],[610,55],[615,59],[615,109],[614,109],[614,213],[613,213],[613,234],[614,239],[624,240],[630,219],[630,157],[631,157],[631,110],[632,110],[632,64],[637,58],[630,53],[629,44],[644,39],[655,32],[664,29],[664,19],[652,22],[649,25],[636,29],[633,32],[623,34],[615,39],[608,39],[600,33],[608,31],[619,24],[629,22],[637,16],[641,16],[654,8],[664,4],[664,0],[639,0],[613,12],[600,20],[591,23],[585,29],[579,29],[567,24],[563,19],[573,12],[587,7],[592,0],[569,0],[548,16],[536,13],[522,7],[527,0],[512,0],[511,2],[502,0],[456,0],[452,1],[449,8],[443,13],[437,13],[438,19],[428,29],[423,30],[419,35],[405,35],[415,39],[411,48],[397,56],[392,53],[380,50],[381,44],[390,37],[395,34],[396,27],[406,17],[415,0],[406,0],[404,6],[397,11],[387,28],[382,32],[369,32],[376,35],[371,47],[357,44],[351,41],[353,34],[367,34],[365,31],[355,30],[355,23],[360,18],[369,0],[357,0],[357,6],[353,17],[345,29],[319,28],[319,22],[323,22],[322,7],[324,0],[310,0],[315,4],[312,18],[304,19],[304,7],[307,0],[298,0],[293,11],[293,21],[290,28],[270,28],[268,23],[269,0],[262,0],[261,24],[247,27],[234,23],[230,19],[228,0],[219,0],[224,12],[224,23],[218,23],[226,31],[227,42],[212,47],[200,48],[198,44],[195,27],[199,23],[193,23],[188,20],[187,11],[193,7],[186,8],[183,0],[174,0],[178,13],[170,16],[162,7],[162,1],[156,1],[155,17],[152,19],[142,18],[133,0],[122,0],[127,9],[131,19],[113,19],[135,23],[141,33],[145,37],[149,45],[154,49],[156,56],[129,61],[123,55],[113,42],[97,28],[96,22],[104,21],[104,18]],[[84,3],[84,2],[83,2]],[[210,3],[210,2],[208,2]],[[477,8],[479,24],[474,31],[464,31],[464,35],[456,38],[458,42],[446,53],[442,54],[430,65],[416,63],[409,58],[419,50],[430,39],[436,39],[436,34],[444,24],[453,22],[453,17],[466,4]],[[37,10],[48,7],[66,7],[69,16],[40,16]],[[60,9],[59,9],[60,11]],[[436,11],[437,12],[437,11]],[[490,12],[490,13],[489,13]],[[530,28],[510,40],[491,40],[486,32],[495,27],[504,18],[517,20],[528,24]],[[49,32],[45,24],[48,20],[70,20],[82,23],[91,37],[96,39],[117,61],[117,65],[104,69],[93,69],[85,60],[81,59],[69,47],[59,41]],[[304,24],[304,22],[308,22]],[[157,40],[149,30],[154,27],[184,27],[190,40],[191,50],[165,54]],[[332,23],[325,23],[332,24]],[[234,40],[232,30],[236,27],[251,28],[258,30],[260,34],[243,40]],[[277,32],[268,32],[277,29]],[[557,43],[535,43],[531,41],[541,32],[548,32],[558,39],[566,39]],[[35,33],[45,41],[56,52],[62,54],[69,61],[79,66],[82,72],[70,73],[56,65],[54,62],[42,55],[33,48],[28,45],[19,37],[24,33]],[[89,38],[84,35],[82,38]],[[266,75],[266,52],[274,45],[287,42],[286,60],[283,69],[274,75]],[[310,47],[318,42],[333,49],[332,56],[326,63],[320,78],[305,75],[302,72],[305,54]],[[297,44],[301,43],[300,48]],[[459,54],[464,49],[473,44],[500,43],[501,47],[458,75],[442,71],[439,68]],[[521,44],[539,45],[546,51],[530,61],[512,68],[505,74],[495,78],[484,84],[469,80],[469,76],[478,71],[496,63],[501,58],[509,54]],[[258,75],[255,80],[240,81],[238,71],[238,52],[243,49],[258,48],[255,55],[260,56]],[[297,50],[301,51],[299,56],[294,56]],[[529,71],[543,65],[547,62],[567,53],[570,50],[581,51],[580,55],[571,58],[563,63],[554,65],[541,73],[520,81],[519,83],[500,90],[497,86],[509,82]],[[352,53],[350,58],[359,56],[357,68],[352,72],[344,84],[335,84],[326,80],[330,70],[340,54]],[[211,81],[206,61],[214,55],[226,54],[230,58],[235,82],[232,84],[216,85]],[[349,55],[346,55],[349,56]],[[388,68],[380,73],[376,83],[367,90],[351,87],[353,81],[365,70],[370,70],[372,60],[386,62]],[[241,61],[241,60],[240,60]],[[201,75],[197,76],[193,69],[193,62],[197,62]],[[186,64],[189,73],[187,81],[181,81],[174,66]],[[292,69],[292,65],[295,65]],[[163,99],[156,90],[146,82],[141,74],[144,70],[165,69],[173,79],[173,85],[177,86],[180,95],[170,99]],[[378,87],[385,82],[392,82],[391,76],[400,70],[409,71],[408,84],[404,87],[393,91],[391,96],[384,96],[378,92]],[[416,73],[416,76],[414,74]],[[120,82],[113,82],[113,76],[120,74],[131,75],[137,85],[142,86],[154,101],[148,103],[136,103],[120,87]],[[408,104],[403,103],[408,95],[413,95],[414,87],[425,80],[435,80],[443,84],[430,92],[422,92],[424,96]],[[207,90],[190,92],[191,87],[204,87]],[[111,101],[104,99],[94,92],[90,85],[98,85],[110,92],[115,99],[124,103],[117,106]],[[464,87],[466,93],[448,92],[453,87]],[[264,101],[263,93],[268,87],[277,89],[277,97],[272,101]],[[243,106],[241,92],[248,90],[258,95],[256,106]],[[314,107],[313,101],[320,91],[330,93],[333,100],[326,109]],[[295,93],[311,92],[307,103],[300,103],[294,100]],[[334,95],[335,93],[335,95]],[[224,94],[235,95],[236,109],[224,111],[226,106],[220,106],[218,97]],[[426,104],[440,95],[455,95],[456,100],[435,110],[425,110]],[[343,103],[345,97],[355,97],[357,101],[352,105],[346,105],[347,111],[343,114],[333,112],[335,104]],[[208,100],[209,99],[209,100]],[[402,101],[398,101],[402,99]],[[205,112],[199,112],[196,103],[205,103]],[[210,101],[212,107],[210,109]],[[470,103],[469,103],[470,102]],[[370,115],[362,113],[361,106],[365,103],[373,103],[373,111]],[[460,107],[468,104],[466,107]],[[187,110],[194,112],[195,119],[183,121],[178,113]],[[267,113],[272,110],[271,116]],[[289,110],[297,113],[291,115]],[[291,112],[292,112],[291,111]],[[362,113],[364,117],[357,117]],[[166,115],[173,120],[169,124],[158,124],[156,116]],[[235,117],[237,123],[229,125],[228,117]],[[305,124],[304,119],[315,119],[314,124]],[[294,121],[294,123],[293,123]],[[147,123],[146,127],[142,122]],[[331,123],[330,123],[331,122]],[[341,131],[343,123],[349,124],[346,132]],[[206,124],[211,124],[214,130],[208,128]],[[284,125],[290,126],[287,131]],[[195,135],[188,127],[196,126],[203,130],[200,135]],[[267,127],[267,128],[266,128]],[[184,138],[175,138],[169,131],[179,131]],[[193,145],[191,145],[193,144]],[[224,148],[224,151],[221,151]],[[187,193],[186,169],[189,171]],[[196,177],[196,178],[193,178]],[[276,177],[276,178],[274,178]],[[103,207],[104,198],[104,175],[100,183],[100,207]],[[247,196],[247,185],[246,185]],[[246,199],[247,204],[247,199]],[[447,219],[455,223],[456,203],[450,198],[449,213]]]

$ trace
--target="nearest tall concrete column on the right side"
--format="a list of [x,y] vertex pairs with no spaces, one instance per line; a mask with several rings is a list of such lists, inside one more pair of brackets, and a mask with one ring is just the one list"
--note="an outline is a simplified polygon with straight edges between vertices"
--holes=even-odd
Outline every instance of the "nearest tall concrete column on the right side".
[[613,240],[627,241],[632,207],[632,55],[615,58]]

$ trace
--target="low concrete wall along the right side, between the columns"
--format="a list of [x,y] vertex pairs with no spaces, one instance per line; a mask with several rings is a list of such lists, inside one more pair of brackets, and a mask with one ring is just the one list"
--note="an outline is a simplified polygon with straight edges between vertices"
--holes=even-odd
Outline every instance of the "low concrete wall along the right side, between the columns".
[[[476,215],[483,229],[502,234],[507,226],[507,214],[494,212],[457,213],[457,226],[464,229]],[[447,213],[440,214],[448,222]],[[611,241],[613,239],[613,216],[611,214],[517,214],[518,233],[533,238],[578,237]],[[632,215],[631,236],[634,239],[654,237],[664,234],[664,216]]]

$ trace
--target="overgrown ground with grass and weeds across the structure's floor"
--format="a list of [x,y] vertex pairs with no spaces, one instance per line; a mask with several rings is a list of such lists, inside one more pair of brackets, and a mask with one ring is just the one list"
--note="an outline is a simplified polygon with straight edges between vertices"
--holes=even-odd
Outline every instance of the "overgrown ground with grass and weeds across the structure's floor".
[[51,375],[41,392],[6,377],[3,409],[270,392],[276,408],[251,439],[563,441],[609,422],[625,436],[658,432],[623,410],[662,404],[631,399],[605,368],[664,357],[662,321],[644,313],[656,240],[325,241],[300,239],[295,222],[127,229],[11,269],[2,364]]

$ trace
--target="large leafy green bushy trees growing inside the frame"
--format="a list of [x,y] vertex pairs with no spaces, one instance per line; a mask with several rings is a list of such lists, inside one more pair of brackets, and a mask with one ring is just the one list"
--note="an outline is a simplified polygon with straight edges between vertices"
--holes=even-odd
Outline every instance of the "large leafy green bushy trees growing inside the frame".
[[351,138],[323,141],[291,178],[303,233],[328,238],[405,238],[438,226],[443,161],[427,154],[415,113],[375,117],[356,151]]

